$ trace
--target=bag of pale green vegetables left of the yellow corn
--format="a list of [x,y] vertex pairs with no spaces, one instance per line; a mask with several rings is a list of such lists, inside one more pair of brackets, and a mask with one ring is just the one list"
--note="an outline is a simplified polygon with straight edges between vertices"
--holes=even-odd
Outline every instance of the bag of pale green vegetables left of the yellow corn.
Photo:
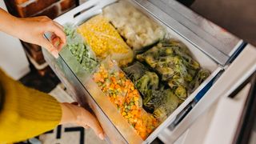
[[98,65],[93,52],[85,45],[74,26],[66,25],[64,31],[67,39],[66,48],[70,50],[71,54],[74,55],[74,58],[78,60],[86,72],[92,72]]

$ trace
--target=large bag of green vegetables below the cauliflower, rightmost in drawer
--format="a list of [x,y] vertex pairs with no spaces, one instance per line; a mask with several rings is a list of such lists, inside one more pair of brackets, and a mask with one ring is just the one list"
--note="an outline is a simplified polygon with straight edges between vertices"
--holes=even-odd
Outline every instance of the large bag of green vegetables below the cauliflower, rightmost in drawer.
[[162,81],[167,82],[182,100],[210,75],[208,70],[201,70],[199,63],[190,57],[185,45],[174,40],[159,42],[136,58],[156,70]]

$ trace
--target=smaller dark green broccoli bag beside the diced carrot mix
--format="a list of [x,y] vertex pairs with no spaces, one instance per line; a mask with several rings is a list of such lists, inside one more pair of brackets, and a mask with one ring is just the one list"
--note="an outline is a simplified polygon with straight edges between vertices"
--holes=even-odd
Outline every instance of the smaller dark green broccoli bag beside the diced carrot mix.
[[158,75],[154,71],[150,71],[140,62],[124,68],[124,71],[141,92],[143,107],[154,114],[160,122],[178,107],[182,99],[178,98],[170,88],[159,84]]

